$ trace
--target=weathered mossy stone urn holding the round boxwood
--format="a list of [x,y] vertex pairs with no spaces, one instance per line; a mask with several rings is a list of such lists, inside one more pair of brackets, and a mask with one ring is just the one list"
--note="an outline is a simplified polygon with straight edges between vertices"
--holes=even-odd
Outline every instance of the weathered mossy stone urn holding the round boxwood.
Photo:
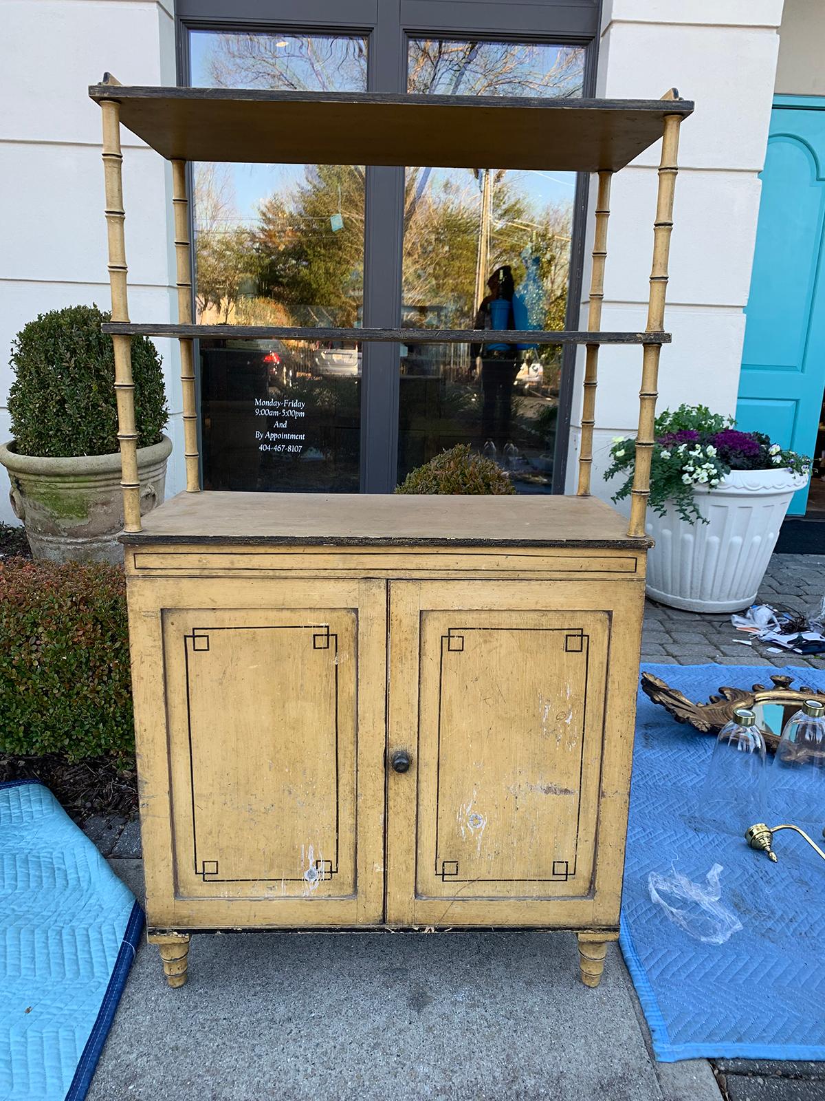
[[[141,513],[164,499],[172,440],[138,449]],[[14,515],[25,525],[35,558],[47,562],[123,562],[120,454],[43,458],[0,445]]]

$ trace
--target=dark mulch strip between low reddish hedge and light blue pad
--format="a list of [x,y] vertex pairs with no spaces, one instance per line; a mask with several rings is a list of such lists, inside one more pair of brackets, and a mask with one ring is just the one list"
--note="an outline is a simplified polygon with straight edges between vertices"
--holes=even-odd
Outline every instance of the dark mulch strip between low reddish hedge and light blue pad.
[[78,825],[94,815],[119,818],[138,815],[134,765],[119,772],[109,757],[70,764],[55,753],[45,756],[0,753],[0,782],[8,780],[38,780]]

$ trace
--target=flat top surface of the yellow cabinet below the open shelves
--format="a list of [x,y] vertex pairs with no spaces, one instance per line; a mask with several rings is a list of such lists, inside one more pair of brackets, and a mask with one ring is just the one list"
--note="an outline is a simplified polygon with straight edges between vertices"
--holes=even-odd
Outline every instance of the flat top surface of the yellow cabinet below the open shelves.
[[178,493],[128,544],[327,546],[651,545],[594,497],[414,497],[367,493]]

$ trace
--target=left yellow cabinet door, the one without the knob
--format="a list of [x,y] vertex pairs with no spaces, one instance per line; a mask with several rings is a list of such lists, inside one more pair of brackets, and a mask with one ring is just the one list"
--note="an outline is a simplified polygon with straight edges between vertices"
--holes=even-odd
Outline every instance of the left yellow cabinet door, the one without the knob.
[[384,585],[186,591],[199,607],[161,611],[175,915],[380,922]]

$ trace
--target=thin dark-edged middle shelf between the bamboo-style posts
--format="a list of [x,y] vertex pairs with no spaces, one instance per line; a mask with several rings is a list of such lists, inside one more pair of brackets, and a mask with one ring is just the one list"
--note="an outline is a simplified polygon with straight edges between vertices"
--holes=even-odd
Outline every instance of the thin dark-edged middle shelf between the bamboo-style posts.
[[573,329],[332,329],[273,325],[133,325],[108,321],[109,336],[183,337],[218,340],[375,340],[384,344],[602,345],[670,344],[670,333],[585,333]]

